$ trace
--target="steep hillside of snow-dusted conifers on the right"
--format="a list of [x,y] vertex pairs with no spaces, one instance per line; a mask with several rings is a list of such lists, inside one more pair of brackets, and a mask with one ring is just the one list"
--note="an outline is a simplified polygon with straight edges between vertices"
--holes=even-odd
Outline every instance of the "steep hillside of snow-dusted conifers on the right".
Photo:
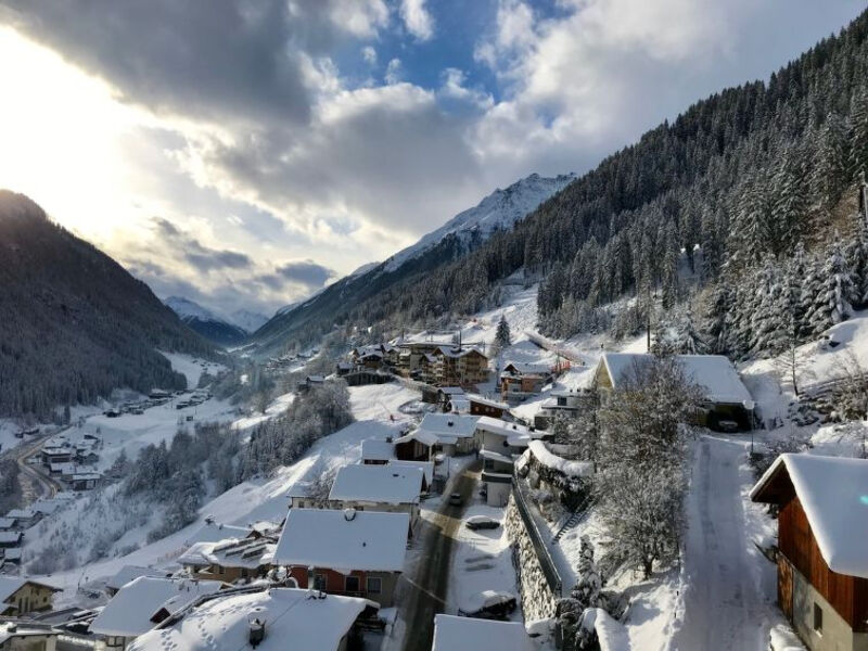
[[[546,278],[540,326],[560,336],[615,326],[603,306],[622,296],[656,294],[671,310],[697,290],[695,328],[717,352],[775,349],[821,330],[861,301],[851,284],[864,278],[865,254],[853,244],[850,190],[868,163],[867,36],[863,14],[769,80],[724,90],[649,131],[469,254],[432,256],[388,286],[369,285],[359,303],[304,314],[305,335],[473,312],[520,269]],[[684,258],[699,283],[679,282]],[[828,305],[831,294],[840,305]],[[643,304],[618,317],[620,332],[644,322]],[[788,315],[790,333],[757,322],[773,309]],[[679,327],[693,328],[685,318]]]

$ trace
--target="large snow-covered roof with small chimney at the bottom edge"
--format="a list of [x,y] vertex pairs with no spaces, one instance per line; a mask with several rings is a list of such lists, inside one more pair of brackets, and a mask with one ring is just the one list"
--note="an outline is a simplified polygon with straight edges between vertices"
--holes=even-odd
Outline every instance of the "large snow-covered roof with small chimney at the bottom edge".
[[212,651],[247,649],[250,620],[265,620],[257,651],[336,651],[356,618],[373,604],[366,599],[327,595],[311,599],[307,590],[271,588],[208,599],[180,621],[138,638],[128,651]]

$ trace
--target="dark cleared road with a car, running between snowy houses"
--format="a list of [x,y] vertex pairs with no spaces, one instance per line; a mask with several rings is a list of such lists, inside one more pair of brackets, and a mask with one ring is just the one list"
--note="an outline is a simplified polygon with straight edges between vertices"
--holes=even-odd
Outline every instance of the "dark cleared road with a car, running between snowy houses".
[[[443,505],[434,518],[423,520],[419,527],[422,545],[422,561],[417,565],[413,576],[407,577],[412,589],[401,605],[400,617],[406,624],[404,651],[431,649],[434,639],[434,615],[446,607],[449,586],[452,551],[461,519],[473,497],[481,462],[474,462],[447,486]],[[463,503],[449,506],[450,493],[460,493]]]

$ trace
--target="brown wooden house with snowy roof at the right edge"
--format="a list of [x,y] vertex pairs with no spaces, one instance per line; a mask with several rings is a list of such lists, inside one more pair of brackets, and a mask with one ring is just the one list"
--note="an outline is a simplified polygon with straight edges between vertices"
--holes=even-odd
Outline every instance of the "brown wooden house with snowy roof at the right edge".
[[868,460],[781,455],[751,499],[778,511],[778,603],[799,637],[868,649]]

